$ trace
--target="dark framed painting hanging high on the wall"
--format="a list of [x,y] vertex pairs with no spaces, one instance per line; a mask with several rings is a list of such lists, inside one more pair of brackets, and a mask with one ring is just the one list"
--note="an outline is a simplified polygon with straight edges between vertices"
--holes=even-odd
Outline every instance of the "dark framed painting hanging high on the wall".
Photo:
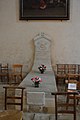
[[69,20],[70,0],[19,0],[20,20]]

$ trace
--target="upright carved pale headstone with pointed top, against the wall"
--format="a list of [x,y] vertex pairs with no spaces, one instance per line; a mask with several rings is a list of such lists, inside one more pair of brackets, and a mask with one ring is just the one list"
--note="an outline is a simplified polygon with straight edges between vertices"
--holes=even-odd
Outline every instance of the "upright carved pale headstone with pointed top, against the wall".
[[35,59],[32,70],[38,70],[41,64],[46,65],[47,71],[52,71],[51,66],[51,38],[44,34],[38,34],[34,38],[35,45]]

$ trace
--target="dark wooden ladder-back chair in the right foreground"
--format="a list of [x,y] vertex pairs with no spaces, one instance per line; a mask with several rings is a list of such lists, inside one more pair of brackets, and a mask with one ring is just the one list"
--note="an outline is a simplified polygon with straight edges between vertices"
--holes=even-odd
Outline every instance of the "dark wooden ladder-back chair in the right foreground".
[[[58,114],[62,113],[73,114],[73,120],[76,120],[76,93],[56,92],[52,93],[52,95],[55,96],[55,120],[58,120]],[[73,95],[74,101],[72,103],[66,102],[68,95]],[[61,100],[62,97],[64,97],[64,101]]]

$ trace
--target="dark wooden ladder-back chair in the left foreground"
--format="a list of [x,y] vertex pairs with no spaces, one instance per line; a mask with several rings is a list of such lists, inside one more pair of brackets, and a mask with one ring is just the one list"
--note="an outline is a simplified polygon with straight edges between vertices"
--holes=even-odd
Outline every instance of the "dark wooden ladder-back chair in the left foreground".
[[[10,105],[17,105],[20,106],[20,110],[23,111],[23,91],[25,88],[18,86],[4,86],[3,88],[5,89],[5,110],[7,110]],[[16,95],[16,90],[19,90],[19,95]],[[18,100],[18,102],[15,100]]]

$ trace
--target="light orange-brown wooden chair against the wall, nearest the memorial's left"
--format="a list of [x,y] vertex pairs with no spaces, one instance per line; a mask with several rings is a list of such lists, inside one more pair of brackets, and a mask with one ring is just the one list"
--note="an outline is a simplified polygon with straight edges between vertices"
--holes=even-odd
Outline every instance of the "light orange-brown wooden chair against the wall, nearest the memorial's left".
[[23,65],[22,64],[13,64],[12,65],[12,72],[10,74],[10,77],[12,80],[18,83],[20,83],[23,79],[22,77],[22,68],[23,68]]

